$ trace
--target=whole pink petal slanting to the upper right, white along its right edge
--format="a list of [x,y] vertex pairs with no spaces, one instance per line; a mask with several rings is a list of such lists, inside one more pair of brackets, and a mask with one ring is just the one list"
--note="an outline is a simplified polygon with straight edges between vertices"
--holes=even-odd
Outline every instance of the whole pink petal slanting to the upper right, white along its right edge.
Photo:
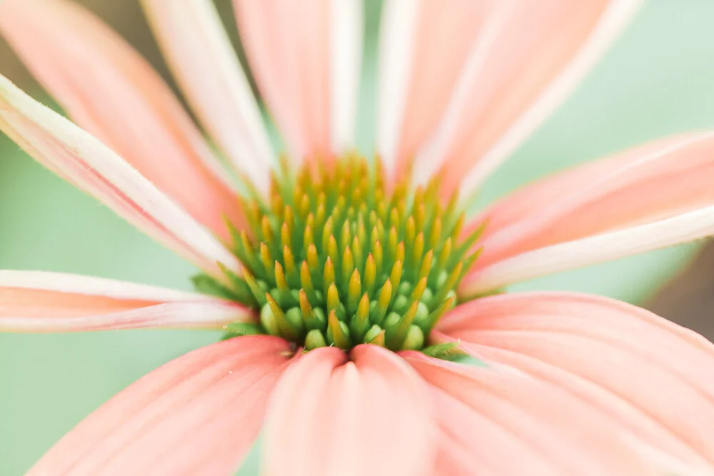
[[[640,0],[495,2],[496,34],[469,58],[453,106],[422,161],[470,196],[568,97]],[[466,106],[468,105],[468,106]],[[417,162],[417,167],[419,161]]]

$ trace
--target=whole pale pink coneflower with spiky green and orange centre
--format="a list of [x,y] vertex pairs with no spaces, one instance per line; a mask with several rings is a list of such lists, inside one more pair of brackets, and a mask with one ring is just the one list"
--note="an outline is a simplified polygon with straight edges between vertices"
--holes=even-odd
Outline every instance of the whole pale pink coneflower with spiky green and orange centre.
[[211,2],[143,1],[241,193],[101,22],[69,1],[0,4],[0,31],[82,127],[0,77],[0,129],[218,295],[1,271],[0,330],[228,334],[116,395],[29,474],[231,474],[261,429],[267,475],[714,471],[713,345],[598,296],[496,293],[713,234],[714,134],[460,213],[638,1],[386,1],[374,167],[353,150],[361,4],[235,3],[288,148],[273,173]]

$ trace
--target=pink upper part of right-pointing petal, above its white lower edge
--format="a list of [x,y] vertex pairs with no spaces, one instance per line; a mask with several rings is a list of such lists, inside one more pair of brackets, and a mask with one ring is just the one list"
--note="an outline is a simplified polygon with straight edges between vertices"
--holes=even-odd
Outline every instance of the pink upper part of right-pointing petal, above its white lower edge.
[[714,134],[676,136],[585,163],[491,206],[479,265],[714,204]]

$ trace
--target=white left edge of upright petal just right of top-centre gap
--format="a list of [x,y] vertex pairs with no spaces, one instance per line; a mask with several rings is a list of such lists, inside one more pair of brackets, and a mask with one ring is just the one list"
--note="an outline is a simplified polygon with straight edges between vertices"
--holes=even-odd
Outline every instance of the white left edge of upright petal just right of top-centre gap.
[[396,166],[421,0],[386,0],[379,39],[377,151],[388,173]]

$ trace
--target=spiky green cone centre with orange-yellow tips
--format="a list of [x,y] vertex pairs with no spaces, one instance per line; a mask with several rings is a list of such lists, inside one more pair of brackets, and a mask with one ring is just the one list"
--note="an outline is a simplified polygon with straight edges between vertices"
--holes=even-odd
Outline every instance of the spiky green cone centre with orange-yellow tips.
[[244,269],[224,270],[231,284],[221,290],[260,320],[228,325],[228,336],[278,335],[305,350],[448,350],[427,348],[428,335],[456,304],[481,233],[458,239],[465,215],[456,203],[441,206],[436,179],[388,192],[380,163],[355,154],[329,168],[283,166],[269,203],[245,203],[249,228],[231,227]]

